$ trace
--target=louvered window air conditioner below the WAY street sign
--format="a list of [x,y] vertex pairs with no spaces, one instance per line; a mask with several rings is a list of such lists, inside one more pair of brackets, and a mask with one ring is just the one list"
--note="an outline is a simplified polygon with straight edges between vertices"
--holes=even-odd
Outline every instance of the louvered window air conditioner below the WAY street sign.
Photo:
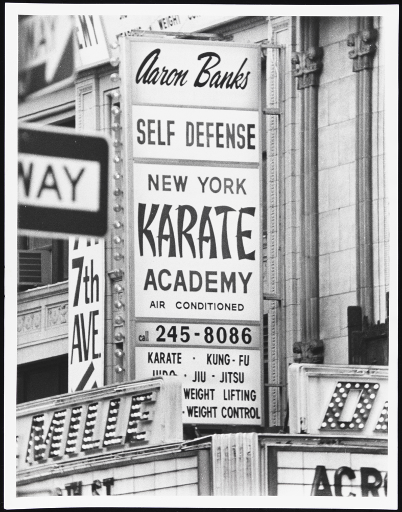
[[18,250],[18,284],[43,286],[52,282],[49,250]]

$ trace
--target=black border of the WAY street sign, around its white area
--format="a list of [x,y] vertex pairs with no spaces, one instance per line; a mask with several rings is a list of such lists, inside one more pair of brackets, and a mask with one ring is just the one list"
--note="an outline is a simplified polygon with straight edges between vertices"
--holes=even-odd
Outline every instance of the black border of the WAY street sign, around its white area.
[[44,127],[35,124],[18,125],[18,158],[28,154],[69,160],[98,162],[98,211],[22,205],[18,199],[18,234],[68,238],[70,235],[105,236],[108,224],[108,169],[110,168],[109,141],[95,133],[76,132],[62,127]]

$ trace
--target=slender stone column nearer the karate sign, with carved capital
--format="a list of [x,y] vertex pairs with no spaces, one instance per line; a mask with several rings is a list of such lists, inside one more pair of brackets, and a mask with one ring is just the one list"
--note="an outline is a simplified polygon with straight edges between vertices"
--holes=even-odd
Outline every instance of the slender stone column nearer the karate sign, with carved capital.
[[301,340],[295,343],[297,362],[322,362],[319,339],[318,240],[318,85],[323,50],[318,46],[318,17],[300,18],[300,51],[292,55],[300,91],[301,194]]

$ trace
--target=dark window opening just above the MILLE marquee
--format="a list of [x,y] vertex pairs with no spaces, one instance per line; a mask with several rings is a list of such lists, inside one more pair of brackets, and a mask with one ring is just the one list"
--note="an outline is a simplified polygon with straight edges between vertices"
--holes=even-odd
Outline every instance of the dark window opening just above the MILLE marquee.
[[17,366],[17,403],[67,393],[68,354]]

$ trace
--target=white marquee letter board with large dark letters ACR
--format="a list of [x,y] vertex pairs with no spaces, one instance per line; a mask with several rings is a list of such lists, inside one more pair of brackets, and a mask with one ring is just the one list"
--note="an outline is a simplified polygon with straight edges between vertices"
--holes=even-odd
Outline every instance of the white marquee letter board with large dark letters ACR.
[[387,497],[384,449],[270,446],[268,467],[271,496]]

